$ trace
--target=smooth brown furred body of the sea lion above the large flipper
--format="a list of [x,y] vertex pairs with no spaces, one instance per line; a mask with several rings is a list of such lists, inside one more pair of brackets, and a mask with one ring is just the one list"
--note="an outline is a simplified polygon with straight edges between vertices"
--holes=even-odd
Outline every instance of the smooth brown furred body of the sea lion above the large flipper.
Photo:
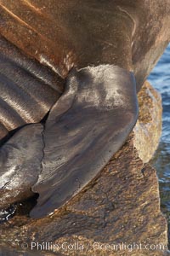
[[62,77],[73,66],[114,64],[134,70],[140,87],[170,36],[168,0],[1,0],[0,6],[3,37]]

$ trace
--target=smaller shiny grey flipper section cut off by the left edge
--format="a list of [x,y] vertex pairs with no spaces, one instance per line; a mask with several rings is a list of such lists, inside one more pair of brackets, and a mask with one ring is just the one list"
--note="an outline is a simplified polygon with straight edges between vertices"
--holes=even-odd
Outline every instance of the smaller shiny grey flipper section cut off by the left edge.
[[26,125],[0,148],[0,209],[33,195],[42,171],[43,126]]

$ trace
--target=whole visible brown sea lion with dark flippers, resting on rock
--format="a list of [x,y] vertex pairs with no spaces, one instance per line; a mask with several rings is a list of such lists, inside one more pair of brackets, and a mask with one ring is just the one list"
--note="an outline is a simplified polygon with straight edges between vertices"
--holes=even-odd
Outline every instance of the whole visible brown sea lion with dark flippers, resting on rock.
[[[32,97],[19,114],[26,99],[20,89],[17,116],[13,106],[8,115],[1,105],[4,129],[13,127],[6,120],[13,119],[14,128],[24,125],[0,149],[1,208],[33,191],[39,198],[31,217],[54,212],[122,147],[138,118],[136,93],[170,38],[169,14],[167,0],[0,1],[1,40],[14,49],[5,54],[6,80],[17,68],[19,87]],[[29,83],[32,74],[36,88]],[[15,84],[12,78],[6,83],[2,102],[9,105]],[[35,103],[32,109],[33,96],[46,107]]]

